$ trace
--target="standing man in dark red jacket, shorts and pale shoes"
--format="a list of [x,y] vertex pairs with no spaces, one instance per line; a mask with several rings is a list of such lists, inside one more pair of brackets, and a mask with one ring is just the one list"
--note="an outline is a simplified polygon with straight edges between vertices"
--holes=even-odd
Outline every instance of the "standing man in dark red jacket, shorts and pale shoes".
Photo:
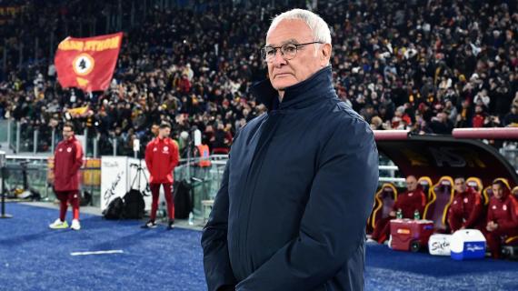
[[79,168],[83,166],[83,147],[74,135],[74,125],[63,125],[63,140],[57,144],[54,154],[54,191],[59,199],[59,218],[49,227],[67,228],[65,221],[67,203],[72,206],[73,220],[70,228],[81,229],[79,223]]

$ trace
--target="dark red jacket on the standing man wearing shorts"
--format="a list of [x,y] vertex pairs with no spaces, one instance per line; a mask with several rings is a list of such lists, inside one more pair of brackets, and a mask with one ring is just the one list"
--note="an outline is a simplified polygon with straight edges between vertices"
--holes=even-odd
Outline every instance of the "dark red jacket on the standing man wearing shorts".
[[83,147],[75,136],[59,142],[54,154],[55,191],[79,190],[81,166],[83,166]]

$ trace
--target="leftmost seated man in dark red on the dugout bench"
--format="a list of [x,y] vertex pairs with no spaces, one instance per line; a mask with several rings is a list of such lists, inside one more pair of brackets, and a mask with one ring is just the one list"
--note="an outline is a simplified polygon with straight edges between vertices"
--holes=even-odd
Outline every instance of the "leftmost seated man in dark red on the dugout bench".
[[426,206],[426,196],[423,188],[417,183],[415,176],[406,177],[406,192],[397,196],[397,201],[393,204],[392,211],[388,217],[382,218],[374,226],[373,236],[368,240],[383,244],[390,236],[390,221],[396,217],[396,212],[401,209],[403,218],[413,218],[415,210],[419,216],[423,217],[424,206]]

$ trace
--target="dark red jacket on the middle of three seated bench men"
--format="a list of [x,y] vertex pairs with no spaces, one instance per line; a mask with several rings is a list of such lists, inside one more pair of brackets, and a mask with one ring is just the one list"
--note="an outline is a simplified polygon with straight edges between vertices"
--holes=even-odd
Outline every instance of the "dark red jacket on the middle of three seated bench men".
[[448,210],[448,223],[453,230],[465,228],[483,228],[482,196],[468,187],[464,193],[455,191],[453,202]]

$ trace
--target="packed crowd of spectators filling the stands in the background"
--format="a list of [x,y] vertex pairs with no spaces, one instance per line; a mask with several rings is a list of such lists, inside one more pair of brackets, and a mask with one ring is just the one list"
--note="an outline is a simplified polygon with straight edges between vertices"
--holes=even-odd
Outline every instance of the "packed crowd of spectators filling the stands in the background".
[[[71,120],[99,137],[100,154],[116,139],[119,155],[133,155],[134,138],[144,146],[161,120],[174,138],[198,128],[211,149],[228,148],[266,110],[248,88],[266,77],[267,20],[286,8],[252,2],[4,1],[19,9],[0,18],[0,118],[20,121],[28,136]],[[335,89],[373,129],[518,125],[514,1],[321,1],[315,12],[332,29]],[[109,89],[60,87],[50,55],[61,39],[121,30]]]

